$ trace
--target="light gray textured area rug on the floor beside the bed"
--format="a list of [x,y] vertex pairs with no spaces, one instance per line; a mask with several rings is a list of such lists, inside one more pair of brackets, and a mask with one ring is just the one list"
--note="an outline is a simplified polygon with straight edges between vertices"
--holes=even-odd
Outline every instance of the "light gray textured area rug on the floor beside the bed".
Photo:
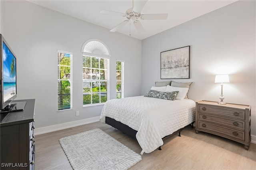
[[126,170],[142,160],[98,128],[61,138],[60,145],[74,170]]

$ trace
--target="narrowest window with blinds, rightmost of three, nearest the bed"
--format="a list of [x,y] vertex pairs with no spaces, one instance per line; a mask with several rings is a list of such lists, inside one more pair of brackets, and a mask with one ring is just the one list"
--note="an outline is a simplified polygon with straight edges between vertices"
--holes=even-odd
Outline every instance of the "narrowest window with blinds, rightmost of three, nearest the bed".
[[124,61],[116,61],[116,99],[124,98]]

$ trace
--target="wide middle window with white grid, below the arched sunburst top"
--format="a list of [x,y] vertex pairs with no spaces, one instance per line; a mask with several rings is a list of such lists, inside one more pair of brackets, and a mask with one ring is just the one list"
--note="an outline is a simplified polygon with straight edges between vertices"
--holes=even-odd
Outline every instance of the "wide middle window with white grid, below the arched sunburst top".
[[108,100],[109,59],[83,55],[83,105]]

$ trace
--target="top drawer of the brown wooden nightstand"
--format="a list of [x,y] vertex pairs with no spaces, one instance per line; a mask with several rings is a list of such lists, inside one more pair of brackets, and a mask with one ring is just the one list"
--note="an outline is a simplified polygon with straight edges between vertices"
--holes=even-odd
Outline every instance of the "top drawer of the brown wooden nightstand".
[[245,120],[245,111],[239,109],[228,109],[209,105],[198,105],[198,112],[211,113],[214,115],[226,116],[230,118]]

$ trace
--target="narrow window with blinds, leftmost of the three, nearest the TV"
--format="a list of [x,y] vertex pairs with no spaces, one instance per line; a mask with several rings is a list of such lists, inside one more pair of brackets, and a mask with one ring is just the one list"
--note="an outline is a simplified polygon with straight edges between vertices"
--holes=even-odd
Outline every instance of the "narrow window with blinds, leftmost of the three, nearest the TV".
[[72,108],[72,53],[58,51],[58,110]]

